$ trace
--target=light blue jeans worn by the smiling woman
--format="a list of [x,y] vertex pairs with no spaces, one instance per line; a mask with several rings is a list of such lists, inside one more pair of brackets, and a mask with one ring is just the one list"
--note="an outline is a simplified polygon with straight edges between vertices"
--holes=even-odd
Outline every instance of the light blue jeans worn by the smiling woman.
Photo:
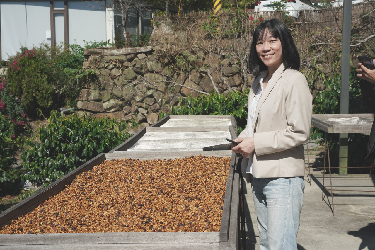
[[297,250],[303,177],[254,178],[253,191],[261,250]]

